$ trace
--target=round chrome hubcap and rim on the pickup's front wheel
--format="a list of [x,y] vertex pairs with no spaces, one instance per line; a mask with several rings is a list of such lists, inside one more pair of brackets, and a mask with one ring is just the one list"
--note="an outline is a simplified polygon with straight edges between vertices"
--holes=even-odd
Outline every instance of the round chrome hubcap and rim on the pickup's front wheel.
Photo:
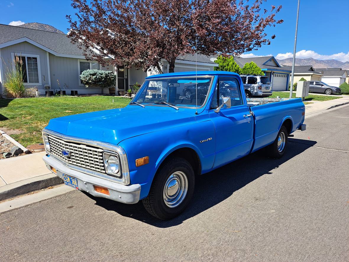
[[183,202],[188,191],[187,176],[181,172],[176,171],[167,179],[164,186],[164,202],[170,208],[175,208]]

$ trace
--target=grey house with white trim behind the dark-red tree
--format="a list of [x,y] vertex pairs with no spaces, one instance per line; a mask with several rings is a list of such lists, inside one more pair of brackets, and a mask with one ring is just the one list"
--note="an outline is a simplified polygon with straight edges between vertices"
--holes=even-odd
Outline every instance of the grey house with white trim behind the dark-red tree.
[[[98,50],[90,50],[91,53]],[[2,83],[6,81],[6,71],[14,68],[15,57],[22,57],[24,85],[37,87],[45,94],[45,87],[51,90],[77,90],[78,94],[101,93],[100,88],[85,87],[80,74],[87,69],[112,71],[117,75],[117,90],[126,91],[136,82],[142,83],[144,77],[157,74],[157,70],[144,72],[138,68],[126,68],[125,65],[107,65],[102,67],[96,61],[88,61],[78,46],[70,43],[66,34],[47,32],[0,24],[0,95]],[[110,57],[106,56],[106,60]],[[195,59],[196,67],[195,67]],[[162,70],[169,72],[169,64],[163,60]],[[213,70],[216,66],[209,57],[186,55],[176,60],[174,71]]]

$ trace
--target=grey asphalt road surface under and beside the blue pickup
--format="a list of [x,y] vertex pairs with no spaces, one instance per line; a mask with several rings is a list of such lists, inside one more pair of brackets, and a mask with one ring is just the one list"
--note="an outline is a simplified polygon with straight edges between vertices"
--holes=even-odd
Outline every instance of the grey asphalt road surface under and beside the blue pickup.
[[306,119],[280,160],[196,180],[176,219],[80,191],[0,214],[1,261],[348,261],[349,107]]

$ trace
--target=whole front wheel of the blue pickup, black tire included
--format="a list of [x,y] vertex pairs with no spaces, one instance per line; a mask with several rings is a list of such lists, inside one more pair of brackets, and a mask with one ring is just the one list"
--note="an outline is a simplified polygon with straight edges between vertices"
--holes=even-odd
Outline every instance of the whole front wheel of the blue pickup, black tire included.
[[144,208],[162,220],[177,217],[186,208],[194,194],[195,175],[184,158],[167,160],[156,173]]

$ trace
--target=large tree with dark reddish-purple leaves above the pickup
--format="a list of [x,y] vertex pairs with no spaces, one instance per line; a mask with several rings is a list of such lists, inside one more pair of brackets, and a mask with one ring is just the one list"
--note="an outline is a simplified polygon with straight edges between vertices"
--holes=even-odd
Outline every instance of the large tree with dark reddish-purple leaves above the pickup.
[[[163,59],[173,72],[184,54],[216,52],[241,54],[270,44],[264,32],[281,6],[263,9],[266,0],[252,5],[237,0],[72,0],[76,20],[70,15],[68,37],[88,60],[102,65],[127,64],[159,72]],[[92,53],[95,49],[97,53]],[[106,61],[108,54],[110,60]]]

